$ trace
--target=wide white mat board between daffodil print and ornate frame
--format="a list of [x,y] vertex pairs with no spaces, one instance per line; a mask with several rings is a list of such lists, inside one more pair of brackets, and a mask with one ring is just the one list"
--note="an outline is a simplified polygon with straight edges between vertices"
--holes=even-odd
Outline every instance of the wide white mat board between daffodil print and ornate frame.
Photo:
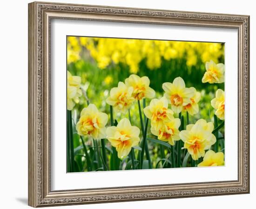
[[[138,25],[99,21],[53,20],[52,72],[52,190],[237,180],[237,30],[202,27]],[[66,173],[66,35],[214,41],[225,43],[225,166]],[[188,35],[189,34],[189,35]],[[236,60],[237,61],[237,60]],[[188,175],[189,173],[189,175]],[[200,173],[200,175],[198,175]],[[161,176],[152,178],[152,176]],[[170,177],[172,176],[172,177]],[[106,181],[108,179],[108,181]],[[125,181],[123,180],[125,179]]]

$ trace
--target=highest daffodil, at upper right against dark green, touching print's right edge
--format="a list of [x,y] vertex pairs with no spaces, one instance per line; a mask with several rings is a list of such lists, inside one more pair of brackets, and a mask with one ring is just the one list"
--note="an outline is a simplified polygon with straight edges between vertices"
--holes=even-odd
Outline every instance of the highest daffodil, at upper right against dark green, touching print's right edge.
[[210,84],[213,83],[223,83],[224,82],[224,65],[216,63],[212,60],[206,62],[205,64],[206,72],[202,77],[202,83],[209,82]]

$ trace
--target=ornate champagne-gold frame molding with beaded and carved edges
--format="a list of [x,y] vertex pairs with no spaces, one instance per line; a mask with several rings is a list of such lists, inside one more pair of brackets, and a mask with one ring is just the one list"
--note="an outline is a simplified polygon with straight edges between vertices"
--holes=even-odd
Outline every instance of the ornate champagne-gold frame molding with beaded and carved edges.
[[[52,191],[50,29],[52,19],[238,30],[237,181]],[[28,4],[28,204],[33,207],[249,193],[249,16],[50,2]]]

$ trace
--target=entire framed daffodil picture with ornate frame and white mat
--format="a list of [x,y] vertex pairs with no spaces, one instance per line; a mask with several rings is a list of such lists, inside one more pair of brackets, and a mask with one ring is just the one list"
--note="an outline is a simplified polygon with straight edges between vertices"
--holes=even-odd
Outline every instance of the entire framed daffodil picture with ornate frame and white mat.
[[249,193],[249,16],[28,4],[28,204]]

